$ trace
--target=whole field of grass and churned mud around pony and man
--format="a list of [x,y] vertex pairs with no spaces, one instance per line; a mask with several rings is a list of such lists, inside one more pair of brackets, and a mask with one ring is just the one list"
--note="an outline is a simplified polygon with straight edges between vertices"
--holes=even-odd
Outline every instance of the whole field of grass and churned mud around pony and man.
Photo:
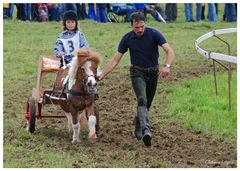
[[[226,73],[218,66],[219,95],[215,96],[212,61],[194,48],[194,41],[201,35],[237,26],[222,22],[222,13],[220,4],[220,21],[186,23],[180,4],[174,23],[158,23],[148,15],[147,26],[160,30],[176,55],[170,77],[159,80],[152,105],[151,149],[137,142],[132,133],[136,101],[129,80],[129,53],[100,83],[101,132],[96,144],[83,141],[72,145],[66,120],[37,121],[36,133],[26,132],[26,102],[36,87],[38,60],[53,55],[62,23],[4,20],[4,167],[236,167],[237,72],[233,72],[232,110],[228,112]],[[80,21],[80,28],[90,47],[102,54],[102,67],[116,52],[121,37],[131,30],[129,23],[99,24],[89,20]],[[236,33],[221,37],[230,43],[231,55],[236,56]],[[214,38],[200,46],[227,53]],[[160,65],[165,59],[163,54],[160,50]]]

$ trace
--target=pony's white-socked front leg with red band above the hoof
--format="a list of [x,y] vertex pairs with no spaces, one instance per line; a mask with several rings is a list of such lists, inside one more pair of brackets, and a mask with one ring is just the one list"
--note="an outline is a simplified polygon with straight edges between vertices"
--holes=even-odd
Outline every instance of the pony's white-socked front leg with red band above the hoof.
[[97,138],[96,133],[96,116],[94,114],[94,106],[92,105],[90,108],[87,109],[88,113],[88,128],[89,128],[89,134],[88,138]]

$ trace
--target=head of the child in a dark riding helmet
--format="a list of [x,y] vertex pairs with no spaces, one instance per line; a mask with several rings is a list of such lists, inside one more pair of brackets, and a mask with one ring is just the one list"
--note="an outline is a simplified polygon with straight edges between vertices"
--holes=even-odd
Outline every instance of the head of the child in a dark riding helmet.
[[63,16],[64,30],[78,31],[78,18],[74,11],[67,11]]

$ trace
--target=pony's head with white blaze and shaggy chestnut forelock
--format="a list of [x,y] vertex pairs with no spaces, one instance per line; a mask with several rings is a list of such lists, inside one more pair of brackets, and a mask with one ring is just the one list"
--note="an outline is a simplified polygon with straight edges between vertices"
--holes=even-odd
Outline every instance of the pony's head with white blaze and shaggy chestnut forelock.
[[72,61],[69,73],[71,75],[75,75],[75,79],[77,79],[78,69],[80,68],[84,71],[84,76],[82,75],[80,77],[83,77],[82,79],[89,94],[97,93],[97,81],[95,79],[95,75],[100,62],[100,54],[83,48],[77,51],[77,55]]

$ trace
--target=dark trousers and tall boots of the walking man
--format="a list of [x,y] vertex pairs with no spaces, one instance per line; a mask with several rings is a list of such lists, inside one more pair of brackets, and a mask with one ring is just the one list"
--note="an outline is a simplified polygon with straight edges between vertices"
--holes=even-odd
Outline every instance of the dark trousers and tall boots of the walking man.
[[138,140],[143,138],[146,146],[151,146],[149,109],[156,92],[158,73],[158,67],[140,68],[131,66],[130,68],[132,86],[137,97],[135,135]]

